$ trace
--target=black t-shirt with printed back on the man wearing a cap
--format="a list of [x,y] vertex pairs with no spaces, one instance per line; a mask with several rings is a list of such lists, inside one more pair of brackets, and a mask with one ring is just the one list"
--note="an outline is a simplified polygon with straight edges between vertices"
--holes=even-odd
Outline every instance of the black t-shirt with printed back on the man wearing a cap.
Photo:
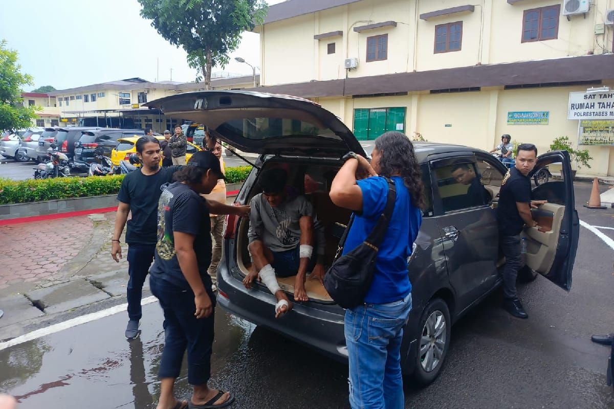
[[211,221],[203,197],[184,183],[175,182],[161,194],[158,212],[158,240],[149,273],[179,288],[190,289],[179,267],[173,232],[192,234],[196,236],[194,251],[198,272],[205,288],[210,289],[211,277],[207,270],[211,263]]

